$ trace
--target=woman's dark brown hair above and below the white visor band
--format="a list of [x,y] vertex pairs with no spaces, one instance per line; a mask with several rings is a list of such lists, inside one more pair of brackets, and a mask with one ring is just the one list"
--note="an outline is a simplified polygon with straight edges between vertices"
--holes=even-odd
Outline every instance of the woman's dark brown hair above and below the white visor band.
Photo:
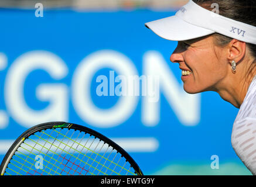
[[[256,0],[193,0],[193,2],[210,11],[213,9],[211,4],[216,3],[219,5],[221,16],[256,26]],[[213,36],[215,37],[214,43],[221,47],[226,46],[232,40],[219,33],[214,33]],[[247,43],[247,46],[251,55],[256,58],[256,45]]]

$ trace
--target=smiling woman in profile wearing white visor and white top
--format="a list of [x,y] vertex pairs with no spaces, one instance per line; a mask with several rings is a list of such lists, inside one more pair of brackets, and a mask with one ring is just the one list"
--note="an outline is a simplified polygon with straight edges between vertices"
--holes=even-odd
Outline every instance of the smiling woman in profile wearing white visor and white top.
[[170,61],[179,63],[187,93],[216,91],[240,109],[231,143],[256,175],[256,1],[190,0],[145,25],[178,41]]

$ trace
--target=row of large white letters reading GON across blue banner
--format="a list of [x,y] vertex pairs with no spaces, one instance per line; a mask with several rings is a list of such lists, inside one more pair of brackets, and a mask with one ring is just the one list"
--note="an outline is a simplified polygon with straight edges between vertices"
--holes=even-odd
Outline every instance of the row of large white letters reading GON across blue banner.
[[[6,65],[3,65],[3,67]],[[111,68],[108,88],[107,77],[100,75],[96,82],[98,95],[117,95],[117,103],[101,109],[91,99],[91,82],[98,70]],[[49,121],[69,120],[69,87],[66,84],[40,84],[36,97],[49,105],[42,110],[30,108],[24,98],[25,79],[34,70],[46,71],[53,79],[66,77],[68,68],[64,61],[48,51],[30,51],[18,57],[9,67],[4,96],[7,112],[0,110],[0,128],[9,123],[8,115],[25,127]],[[157,78],[157,79],[156,79]],[[155,126],[160,120],[159,93],[162,92],[178,119],[185,126],[194,126],[200,119],[200,94],[186,93],[176,80],[166,61],[157,51],[148,51],[143,58],[143,75],[139,77],[134,63],[124,54],[114,50],[96,51],[84,58],[74,71],[71,81],[71,101],[76,113],[84,122],[102,128],[118,126],[131,117],[139,99],[139,82],[142,82],[142,116],[145,126]],[[114,87],[114,82],[118,82]],[[125,82],[125,84],[122,84]],[[159,84],[160,82],[160,84]],[[108,82],[107,82],[108,83]],[[104,88],[104,89],[103,89]],[[159,91],[160,89],[160,91]]]

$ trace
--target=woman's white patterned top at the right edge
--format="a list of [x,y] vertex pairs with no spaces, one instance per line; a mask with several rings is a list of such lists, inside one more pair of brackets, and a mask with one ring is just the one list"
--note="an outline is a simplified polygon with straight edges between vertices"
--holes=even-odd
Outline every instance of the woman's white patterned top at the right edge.
[[231,143],[244,165],[256,175],[256,76],[235,118]]

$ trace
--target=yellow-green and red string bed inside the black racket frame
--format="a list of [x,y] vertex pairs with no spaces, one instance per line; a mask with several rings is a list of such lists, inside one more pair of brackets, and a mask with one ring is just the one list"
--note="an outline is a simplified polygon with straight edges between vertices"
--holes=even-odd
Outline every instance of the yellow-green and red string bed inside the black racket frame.
[[[40,167],[35,168],[36,165]],[[43,130],[23,141],[6,174],[135,175],[135,171],[120,153],[104,141],[64,128],[59,131]]]

